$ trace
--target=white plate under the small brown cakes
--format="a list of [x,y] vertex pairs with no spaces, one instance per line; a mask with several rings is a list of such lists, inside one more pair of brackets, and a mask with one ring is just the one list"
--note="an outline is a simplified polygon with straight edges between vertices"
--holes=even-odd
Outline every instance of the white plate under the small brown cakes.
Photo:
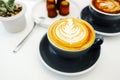
[[33,19],[36,19],[38,17],[45,17],[46,19],[42,21],[42,24],[50,25],[52,22],[60,19],[60,18],[65,18],[65,17],[79,17],[79,6],[72,0],[69,0],[70,3],[70,13],[67,16],[61,16],[57,15],[55,18],[49,18],[47,15],[47,10],[46,10],[46,2],[45,1],[40,1],[37,2],[37,4],[33,7],[32,10],[32,17]]

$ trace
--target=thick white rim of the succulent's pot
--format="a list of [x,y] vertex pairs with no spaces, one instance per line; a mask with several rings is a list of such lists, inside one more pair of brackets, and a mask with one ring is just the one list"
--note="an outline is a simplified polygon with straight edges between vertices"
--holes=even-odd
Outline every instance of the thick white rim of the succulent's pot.
[[14,20],[16,18],[19,18],[21,17],[22,15],[24,15],[24,13],[26,12],[26,5],[23,3],[23,2],[19,2],[19,1],[16,1],[15,4],[20,4],[21,7],[22,7],[22,10],[17,14],[17,15],[14,15],[14,16],[11,16],[11,17],[1,17],[0,16],[0,20],[1,21],[9,21],[9,20]]

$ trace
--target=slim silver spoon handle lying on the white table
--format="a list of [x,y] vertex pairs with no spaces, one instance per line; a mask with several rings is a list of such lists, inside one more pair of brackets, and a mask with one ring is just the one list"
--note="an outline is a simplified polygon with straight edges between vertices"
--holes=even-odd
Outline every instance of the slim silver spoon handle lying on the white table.
[[33,28],[31,29],[31,31],[25,36],[25,38],[16,46],[16,48],[13,50],[13,53],[17,53],[17,51],[19,51],[23,45],[23,43],[25,42],[25,40],[30,36],[30,34],[32,33],[32,31],[35,29],[36,23],[34,22]]

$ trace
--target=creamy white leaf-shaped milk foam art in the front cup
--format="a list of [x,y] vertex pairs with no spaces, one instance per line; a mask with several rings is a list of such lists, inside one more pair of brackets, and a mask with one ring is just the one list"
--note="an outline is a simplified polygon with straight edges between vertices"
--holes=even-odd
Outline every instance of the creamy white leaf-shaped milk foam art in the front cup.
[[61,22],[56,27],[56,35],[69,44],[83,40],[86,36],[86,31],[84,25],[75,23],[73,19]]

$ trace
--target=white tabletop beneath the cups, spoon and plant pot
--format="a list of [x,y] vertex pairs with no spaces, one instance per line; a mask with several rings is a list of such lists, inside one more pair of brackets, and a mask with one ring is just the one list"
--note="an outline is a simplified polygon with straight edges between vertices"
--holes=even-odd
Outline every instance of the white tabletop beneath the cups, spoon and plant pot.
[[[13,49],[33,27],[32,8],[40,0],[20,0],[27,6],[26,28],[19,33],[8,33],[0,23],[0,80],[120,80],[120,35],[103,36],[99,63],[89,73],[79,76],[63,76],[47,69],[40,60],[39,43],[47,29],[37,26],[23,47]],[[80,11],[89,0],[74,0]],[[119,26],[120,27],[120,26]]]

